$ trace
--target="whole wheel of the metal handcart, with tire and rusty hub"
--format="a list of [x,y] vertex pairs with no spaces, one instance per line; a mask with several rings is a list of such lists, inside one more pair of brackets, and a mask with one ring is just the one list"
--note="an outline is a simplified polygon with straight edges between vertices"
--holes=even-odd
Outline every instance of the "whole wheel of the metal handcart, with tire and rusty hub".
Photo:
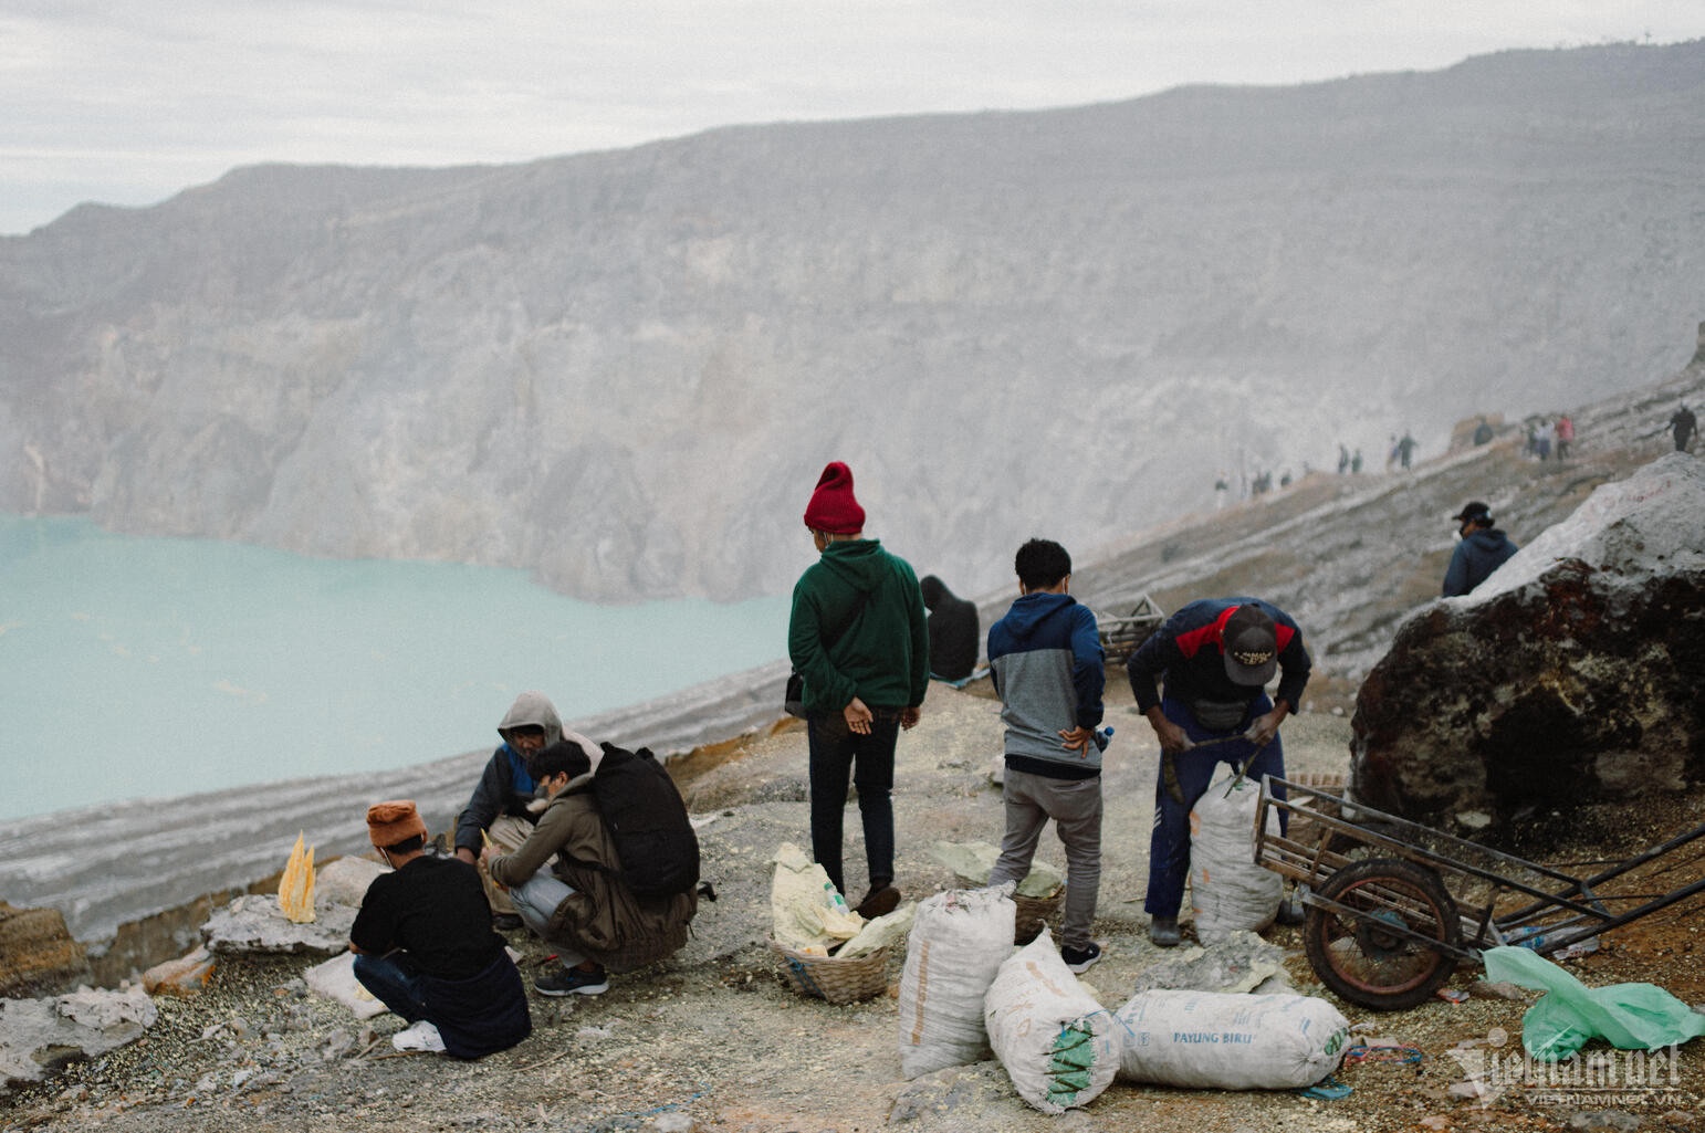
[[1461,944],[1456,901],[1430,869],[1396,857],[1352,862],[1326,879],[1320,900],[1349,912],[1309,906],[1303,925],[1308,964],[1352,1004],[1413,1007],[1456,969],[1448,951]]

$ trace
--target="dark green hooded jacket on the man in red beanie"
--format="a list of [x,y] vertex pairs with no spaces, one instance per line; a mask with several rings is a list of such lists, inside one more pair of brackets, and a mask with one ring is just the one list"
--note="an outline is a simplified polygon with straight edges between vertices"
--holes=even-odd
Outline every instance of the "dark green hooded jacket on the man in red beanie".
[[805,710],[924,702],[929,629],[912,567],[875,538],[829,543],[793,588],[788,656],[805,676]]

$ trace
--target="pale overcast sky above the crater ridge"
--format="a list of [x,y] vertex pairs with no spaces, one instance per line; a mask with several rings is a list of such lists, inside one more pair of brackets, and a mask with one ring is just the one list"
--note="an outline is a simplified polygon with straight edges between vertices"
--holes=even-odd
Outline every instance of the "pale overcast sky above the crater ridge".
[[520,162],[1702,36],[1702,0],[0,0],[0,233],[256,162]]

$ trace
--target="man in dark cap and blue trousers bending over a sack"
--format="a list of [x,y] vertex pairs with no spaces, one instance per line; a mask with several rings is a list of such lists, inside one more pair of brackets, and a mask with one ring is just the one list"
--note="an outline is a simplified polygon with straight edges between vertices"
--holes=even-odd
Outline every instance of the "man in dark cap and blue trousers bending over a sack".
[[[1284,777],[1279,724],[1298,709],[1311,661],[1289,613],[1260,598],[1202,598],[1166,618],[1125,671],[1137,710],[1161,743],[1149,837],[1149,939],[1180,940],[1178,910],[1190,874],[1190,809],[1219,763],[1250,779]],[[1269,699],[1267,682],[1279,676]],[[1165,693],[1156,682],[1165,680]],[[1284,789],[1274,792],[1284,797]]]

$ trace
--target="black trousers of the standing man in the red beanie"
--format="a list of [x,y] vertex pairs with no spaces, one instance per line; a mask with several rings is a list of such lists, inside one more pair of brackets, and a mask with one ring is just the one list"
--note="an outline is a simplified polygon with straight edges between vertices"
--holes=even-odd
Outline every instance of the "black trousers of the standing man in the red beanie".
[[841,838],[847,777],[858,787],[870,886],[893,881],[893,745],[900,738],[900,712],[871,709],[871,714],[876,719],[868,736],[849,729],[841,712],[805,717],[812,745],[812,855],[841,893],[846,893]]

